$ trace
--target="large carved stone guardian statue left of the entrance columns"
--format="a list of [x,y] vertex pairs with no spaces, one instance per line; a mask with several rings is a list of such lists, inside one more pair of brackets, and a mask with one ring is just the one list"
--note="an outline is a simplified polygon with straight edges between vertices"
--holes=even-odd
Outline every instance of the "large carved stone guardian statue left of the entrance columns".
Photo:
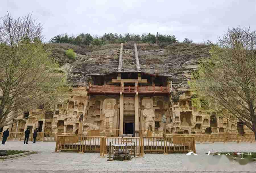
[[115,111],[112,109],[112,104],[107,103],[107,109],[103,112],[104,115],[104,129],[112,129],[114,125]]

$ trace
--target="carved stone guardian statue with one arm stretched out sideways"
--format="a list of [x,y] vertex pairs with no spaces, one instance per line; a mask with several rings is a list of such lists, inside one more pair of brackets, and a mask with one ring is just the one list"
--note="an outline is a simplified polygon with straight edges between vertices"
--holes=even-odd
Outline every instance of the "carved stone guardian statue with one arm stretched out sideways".
[[151,104],[147,103],[145,109],[142,111],[143,117],[145,118],[145,129],[149,130],[151,125],[152,130],[155,130],[155,109],[158,107],[151,108]]

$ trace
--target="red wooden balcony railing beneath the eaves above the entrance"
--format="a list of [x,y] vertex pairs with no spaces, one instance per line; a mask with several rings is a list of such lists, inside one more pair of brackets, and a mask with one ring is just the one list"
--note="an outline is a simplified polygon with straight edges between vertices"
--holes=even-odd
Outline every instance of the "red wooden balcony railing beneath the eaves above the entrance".
[[111,85],[90,85],[91,93],[169,93],[169,86],[111,86]]

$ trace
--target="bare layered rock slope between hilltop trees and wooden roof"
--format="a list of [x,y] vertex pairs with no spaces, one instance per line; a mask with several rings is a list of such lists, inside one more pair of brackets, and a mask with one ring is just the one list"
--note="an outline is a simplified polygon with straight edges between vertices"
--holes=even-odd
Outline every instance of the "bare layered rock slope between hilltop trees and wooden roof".
[[[52,57],[69,71],[73,85],[88,85],[90,74],[117,71],[120,44],[101,47],[80,47],[69,44],[49,44]],[[65,51],[72,48],[75,59],[69,59]],[[198,59],[209,57],[210,46],[200,44],[174,44],[164,48],[158,45],[137,44],[141,71],[159,75],[172,75],[174,86],[187,88],[191,71],[198,67]],[[136,71],[133,44],[123,46],[123,71]]]

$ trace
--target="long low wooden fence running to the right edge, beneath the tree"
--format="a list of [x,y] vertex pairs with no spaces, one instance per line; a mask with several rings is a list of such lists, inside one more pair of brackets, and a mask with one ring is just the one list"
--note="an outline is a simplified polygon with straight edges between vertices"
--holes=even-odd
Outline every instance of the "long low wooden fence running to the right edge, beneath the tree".
[[256,143],[254,134],[196,134],[167,135],[168,137],[195,137],[196,143]]

